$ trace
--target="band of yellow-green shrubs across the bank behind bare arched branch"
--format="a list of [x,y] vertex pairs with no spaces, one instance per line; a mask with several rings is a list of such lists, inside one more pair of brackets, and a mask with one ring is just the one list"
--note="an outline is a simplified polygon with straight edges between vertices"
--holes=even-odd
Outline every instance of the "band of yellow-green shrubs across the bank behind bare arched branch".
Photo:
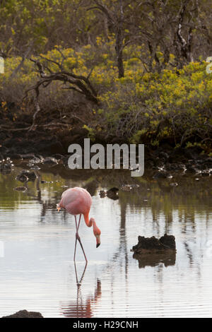
[[[76,50],[56,46],[40,54],[40,61],[48,64],[52,72],[57,71],[58,66],[48,59],[59,64],[63,62],[64,69],[76,75],[89,75],[100,101],[92,121],[85,126],[93,140],[95,133],[101,131],[105,139],[115,136],[129,143],[151,143],[153,146],[162,141],[170,141],[176,146],[202,140],[210,143],[212,74],[206,73],[206,62],[192,62],[182,69],[167,66],[161,73],[147,73],[139,61],[139,54],[141,47],[125,47],[124,78],[117,78],[114,35],[107,41],[98,37],[95,47],[83,45]],[[35,65],[28,59],[13,76],[21,60],[21,57],[8,57],[5,74],[0,75],[1,100],[19,103],[20,108],[23,107],[24,90],[34,85],[38,78]],[[62,108],[70,93],[78,97],[72,90],[64,92],[61,82],[52,83],[45,89],[43,107],[52,107],[51,102],[60,98],[59,107]]]

